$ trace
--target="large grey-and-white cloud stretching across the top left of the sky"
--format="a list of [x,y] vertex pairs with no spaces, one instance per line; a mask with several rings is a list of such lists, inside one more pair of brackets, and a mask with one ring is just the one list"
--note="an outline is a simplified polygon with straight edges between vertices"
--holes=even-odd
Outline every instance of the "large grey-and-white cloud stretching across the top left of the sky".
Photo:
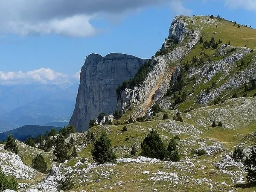
[[1,0],[0,33],[88,37],[99,30],[91,24],[95,18],[164,3],[177,6],[173,10],[182,14],[188,12],[180,0]]

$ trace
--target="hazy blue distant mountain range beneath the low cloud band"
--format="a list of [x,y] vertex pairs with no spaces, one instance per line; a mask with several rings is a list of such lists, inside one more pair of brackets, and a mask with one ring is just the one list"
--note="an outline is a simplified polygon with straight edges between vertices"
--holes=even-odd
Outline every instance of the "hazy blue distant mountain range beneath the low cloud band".
[[[0,132],[23,125],[68,122],[72,115],[78,84],[0,85]],[[50,123],[49,125],[67,125]],[[63,125],[63,126],[62,126]]]

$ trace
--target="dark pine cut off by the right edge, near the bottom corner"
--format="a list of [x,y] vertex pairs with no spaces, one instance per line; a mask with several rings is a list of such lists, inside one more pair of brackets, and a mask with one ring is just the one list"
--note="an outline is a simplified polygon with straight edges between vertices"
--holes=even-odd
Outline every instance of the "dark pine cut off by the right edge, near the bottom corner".
[[246,157],[244,161],[244,168],[247,171],[247,181],[255,182],[256,181],[256,143],[251,148],[249,157]]

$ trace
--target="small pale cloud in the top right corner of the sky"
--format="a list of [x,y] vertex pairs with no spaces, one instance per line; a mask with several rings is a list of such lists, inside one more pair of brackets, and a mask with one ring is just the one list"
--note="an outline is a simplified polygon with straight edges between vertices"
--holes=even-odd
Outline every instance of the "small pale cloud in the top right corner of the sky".
[[256,0],[225,0],[225,6],[233,9],[244,8],[247,10],[256,10]]

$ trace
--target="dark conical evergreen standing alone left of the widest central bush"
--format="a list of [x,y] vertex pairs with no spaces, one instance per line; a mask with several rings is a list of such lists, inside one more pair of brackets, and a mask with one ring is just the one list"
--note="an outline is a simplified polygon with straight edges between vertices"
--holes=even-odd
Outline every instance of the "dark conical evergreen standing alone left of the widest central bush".
[[91,151],[93,159],[99,163],[115,162],[116,155],[113,153],[111,146],[111,139],[105,133],[102,133],[93,143],[93,150]]

